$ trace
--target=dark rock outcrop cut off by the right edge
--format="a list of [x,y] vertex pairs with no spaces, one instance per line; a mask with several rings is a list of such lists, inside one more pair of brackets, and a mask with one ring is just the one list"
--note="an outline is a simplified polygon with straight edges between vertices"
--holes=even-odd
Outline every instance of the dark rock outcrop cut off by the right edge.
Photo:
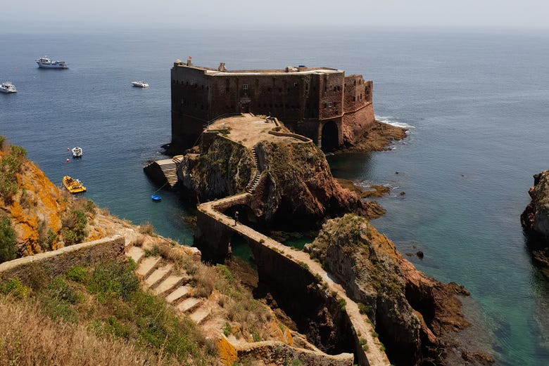
[[529,190],[531,202],[520,216],[526,234],[526,244],[532,259],[549,277],[549,171],[534,175],[534,185]]

